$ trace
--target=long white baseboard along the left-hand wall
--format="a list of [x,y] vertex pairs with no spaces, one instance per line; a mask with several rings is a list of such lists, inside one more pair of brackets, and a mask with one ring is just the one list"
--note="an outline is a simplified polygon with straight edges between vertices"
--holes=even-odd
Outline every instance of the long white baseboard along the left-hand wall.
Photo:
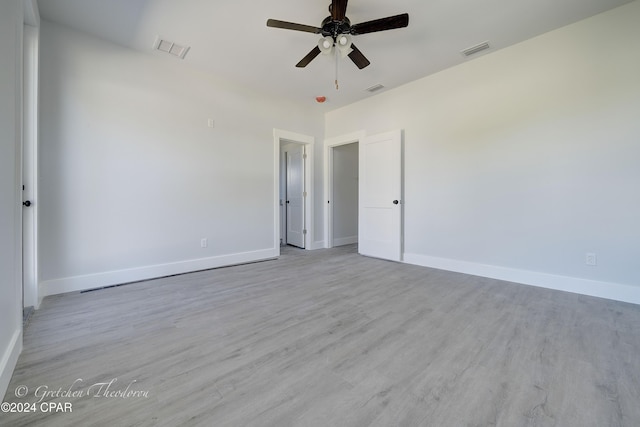
[[252,252],[241,252],[209,258],[179,261],[168,264],[130,268],[126,270],[105,271],[83,276],[64,277],[61,279],[41,282],[39,295],[41,297],[46,297],[48,295],[63,294],[66,292],[85,291],[104,286],[149,280],[157,277],[189,273],[192,271],[263,261],[277,258],[279,255],[280,248],[271,248]]

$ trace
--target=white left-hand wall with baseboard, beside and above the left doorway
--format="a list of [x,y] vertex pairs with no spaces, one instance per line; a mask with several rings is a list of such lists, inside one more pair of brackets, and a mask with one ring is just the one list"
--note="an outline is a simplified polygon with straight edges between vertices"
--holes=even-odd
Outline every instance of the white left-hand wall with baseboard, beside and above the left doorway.
[[312,105],[49,22],[40,52],[43,295],[277,254],[273,129],[321,136]]

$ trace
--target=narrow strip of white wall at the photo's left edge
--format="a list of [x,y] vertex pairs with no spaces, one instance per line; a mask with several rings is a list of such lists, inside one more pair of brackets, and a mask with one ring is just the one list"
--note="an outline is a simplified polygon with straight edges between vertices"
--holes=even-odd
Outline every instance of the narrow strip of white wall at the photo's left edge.
[[21,1],[0,2],[0,397],[22,350],[22,23]]

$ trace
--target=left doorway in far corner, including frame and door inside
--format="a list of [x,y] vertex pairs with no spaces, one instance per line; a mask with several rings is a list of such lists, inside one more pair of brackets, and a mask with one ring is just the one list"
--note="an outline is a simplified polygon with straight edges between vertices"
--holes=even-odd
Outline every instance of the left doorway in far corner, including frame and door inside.
[[275,235],[274,246],[314,249],[314,138],[274,129]]

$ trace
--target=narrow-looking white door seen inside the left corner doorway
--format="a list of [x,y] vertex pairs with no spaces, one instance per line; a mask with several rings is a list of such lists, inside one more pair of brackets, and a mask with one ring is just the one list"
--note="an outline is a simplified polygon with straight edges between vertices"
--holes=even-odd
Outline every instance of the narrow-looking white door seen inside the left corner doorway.
[[304,248],[304,145],[287,149],[287,244]]

